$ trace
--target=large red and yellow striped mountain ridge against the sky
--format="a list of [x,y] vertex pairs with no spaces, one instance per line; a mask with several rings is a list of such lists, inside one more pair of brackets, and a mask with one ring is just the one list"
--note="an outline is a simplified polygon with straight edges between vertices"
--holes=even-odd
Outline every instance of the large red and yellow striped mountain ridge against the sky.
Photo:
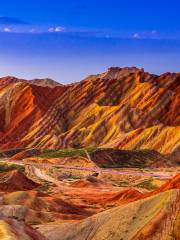
[[109,68],[69,85],[5,77],[0,148],[149,149],[179,158],[179,104],[180,73]]

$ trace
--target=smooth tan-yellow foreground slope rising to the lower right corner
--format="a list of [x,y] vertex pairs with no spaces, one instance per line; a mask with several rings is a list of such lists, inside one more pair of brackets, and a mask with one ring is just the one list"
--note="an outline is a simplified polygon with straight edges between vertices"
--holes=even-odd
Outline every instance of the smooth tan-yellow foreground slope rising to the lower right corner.
[[39,230],[51,240],[179,239],[179,194],[179,190],[166,191],[78,223],[43,225]]

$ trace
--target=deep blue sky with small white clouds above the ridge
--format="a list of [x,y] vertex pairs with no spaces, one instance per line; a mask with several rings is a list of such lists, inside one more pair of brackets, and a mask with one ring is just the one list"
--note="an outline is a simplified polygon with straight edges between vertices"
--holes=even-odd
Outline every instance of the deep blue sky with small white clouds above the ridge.
[[80,81],[111,66],[180,72],[179,0],[0,1],[0,76]]

